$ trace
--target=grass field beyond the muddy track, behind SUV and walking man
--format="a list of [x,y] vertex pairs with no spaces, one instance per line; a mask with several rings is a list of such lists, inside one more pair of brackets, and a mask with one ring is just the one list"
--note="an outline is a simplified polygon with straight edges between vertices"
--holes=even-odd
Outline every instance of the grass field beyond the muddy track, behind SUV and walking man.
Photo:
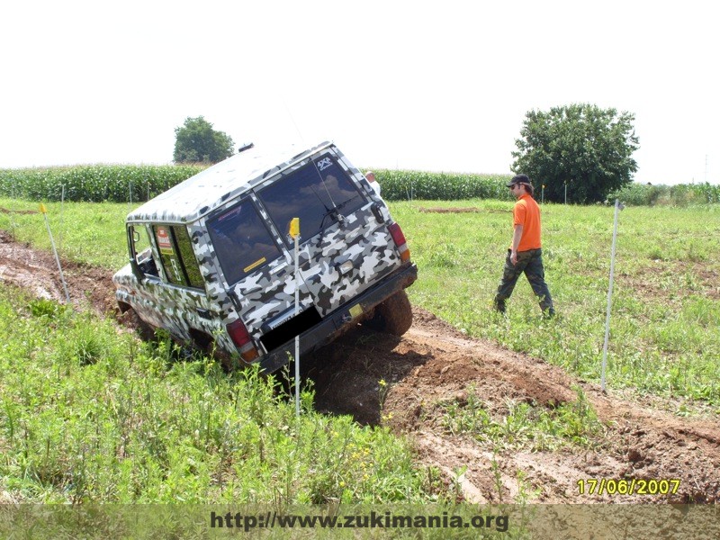
[[[34,210],[34,202],[0,207]],[[438,212],[434,209],[474,209]],[[48,205],[64,257],[125,264],[128,204]],[[410,299],[469,336],[526,352],[599,381],[613,207],[545,204],[546,280],[559,317],[544,320],[524,278],[508,316],[491,310],[510,241],[512,202],[392,202],[419,280]],[[41,214],[0,214],[0,228],[49,248]],[[608,385],[720,406],[720,206],[628,207],[618,220]]]

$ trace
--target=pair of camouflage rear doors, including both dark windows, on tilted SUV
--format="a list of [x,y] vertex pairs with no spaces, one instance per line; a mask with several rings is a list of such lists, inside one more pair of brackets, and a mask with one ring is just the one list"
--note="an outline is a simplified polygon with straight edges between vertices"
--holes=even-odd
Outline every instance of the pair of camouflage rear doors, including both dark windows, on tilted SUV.
[[[267,350],[351,301],[401,265],[381,212],[329,151],[291,166],[206,221],[238,315]],[[300,315],[294,240],[300,219]]]

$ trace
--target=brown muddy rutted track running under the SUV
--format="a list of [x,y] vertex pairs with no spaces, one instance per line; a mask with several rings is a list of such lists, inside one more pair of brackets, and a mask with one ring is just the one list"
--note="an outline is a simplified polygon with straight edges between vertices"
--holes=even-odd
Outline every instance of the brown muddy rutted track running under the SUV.
[[[112,270],[66,261],[63,272],[76,309],[116,318]],[[0,282],[58,302],[65,297],[55,259],[4,231]],[[617,392],[604,394],[560,368],[468,339],[433,314],[413,311],[403,338],[358,328],[303,360],[318,410],[383,424],[408,437],[417,464],[437,467],[459,499],[512,502],[521,491],[538,490],[535,500],[545,503],[720,501],[720,419],[680,418]],[[387,385],[381,387],[381,380]],[[575,401],[575,386],[607,426],[597,448],[493,449],[449,434],[437,407],[438,402],[463,407],[471,388],[491,412],[504,410],[508,400],[554,407]],[[518,471],[525,473],[522,482]],[[591,478],[679,479],[680,489],[672,496],[579,494],[577,482]]]

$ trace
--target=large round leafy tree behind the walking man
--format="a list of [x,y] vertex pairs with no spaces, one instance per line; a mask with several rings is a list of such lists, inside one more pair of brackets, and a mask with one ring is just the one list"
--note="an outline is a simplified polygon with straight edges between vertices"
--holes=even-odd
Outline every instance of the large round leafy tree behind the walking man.
[[633,181],[635,115],[589,103],[526,113],[512,170],[545,185],[545,199],[599,202]]

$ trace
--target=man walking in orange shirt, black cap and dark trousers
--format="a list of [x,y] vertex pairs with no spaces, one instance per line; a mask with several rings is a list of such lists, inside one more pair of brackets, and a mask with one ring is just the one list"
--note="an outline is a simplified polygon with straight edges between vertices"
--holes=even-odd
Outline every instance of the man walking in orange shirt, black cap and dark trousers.
[[517,175],[510,180],[508,187],[518,202],[512,211],[513,235],[512,244],[505,260],[502,279],[495,295],[495,309],[505,312],[505,302],[512,294],[518,277],[525,273],[533,292],[540,300],[540,308],[548,317],[553,317],[555,310],[550,291],[545,284],[543,268],[543,250],[540,241],[540,208],[533,199],[533,184],[527,175]]

